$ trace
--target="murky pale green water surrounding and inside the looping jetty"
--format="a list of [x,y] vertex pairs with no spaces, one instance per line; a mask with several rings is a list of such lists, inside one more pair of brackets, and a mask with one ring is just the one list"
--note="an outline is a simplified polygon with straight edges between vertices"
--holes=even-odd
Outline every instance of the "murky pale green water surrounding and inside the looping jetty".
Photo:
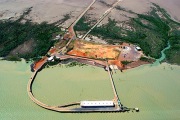
[[[25,62],[0,61],[0,120],[178,120],[180,119],[180,67],[145,65],[113,74],[124,106],[138,107],[139,113],[65,114],[34,104],[26,86],[31,76]],[[111,99],[108,74],[91,66],[48,68],[38,74],[33,91],[49,105],[79,100]]]

